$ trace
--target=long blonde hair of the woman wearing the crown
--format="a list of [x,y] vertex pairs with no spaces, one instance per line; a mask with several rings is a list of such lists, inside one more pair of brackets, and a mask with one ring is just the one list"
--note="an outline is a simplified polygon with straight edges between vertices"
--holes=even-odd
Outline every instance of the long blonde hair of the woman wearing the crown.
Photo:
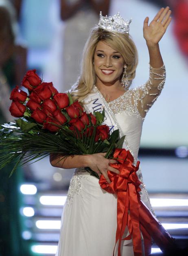
[[74,101],[82,101],[92,91],[93,85],[96,83],[93,61],[95,49],[99,41],[105,42],[122,55],[127,65],[128,80],[131,81],[135,77],[138,53],[130,35],[108,32],[98,28],[98,26],[94,27],[83,49],[80,77],[71,89]]

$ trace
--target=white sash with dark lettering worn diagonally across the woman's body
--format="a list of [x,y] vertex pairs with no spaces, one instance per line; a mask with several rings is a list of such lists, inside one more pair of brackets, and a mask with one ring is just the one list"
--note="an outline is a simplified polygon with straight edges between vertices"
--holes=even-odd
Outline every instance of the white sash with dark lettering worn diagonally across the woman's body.
[[[105,101],[105,98],[103,97],[103,95],[101,94],[101,92],[98,90],[98,88],[96,86],[94,86],[92,93],[88,94],[84,98],[84,107],[85,107],[85,110],[87,113],[90,113],[90,112],[93,113],[94,111],[99,111],[102,113],[103,108],[105,108],[105,120],[104,120],[103,124],[109,126],[110,132],[113,132],[114,130],[119,129],[120,137],[122,137],[124,135],[120,125],[118,124],[118,121],[116,120],[115,115],[111,111],[108,103]],[[125,137],[124,143],[122,145],[122,148],[129,150],[131,152],[131,154],[133,155],[133,152],[130,148],[129,143],[126,140],[126,137]],[[134,158],[134,155],[133,155],[133,158]],[[133,164],[135,166],[136,166],[136,163],[137,163],[137,159],[134,158]],[[151,210],[151,212],[156,217],[155,212],[153,211],[153,208],[151,206],[149,194],[148,194],[145,184],[143,182],[142,171],[141,171],[140,167],[139,167],[139,170],[137,171],[137,175],[138,175],[138,178],[140,179],[140,181],[142,182],[142,185],[140,185],[140,188],[142,189],[142,193],[140,193],[141,199],[146,204],[146,206],[148,206],[148,208]]]

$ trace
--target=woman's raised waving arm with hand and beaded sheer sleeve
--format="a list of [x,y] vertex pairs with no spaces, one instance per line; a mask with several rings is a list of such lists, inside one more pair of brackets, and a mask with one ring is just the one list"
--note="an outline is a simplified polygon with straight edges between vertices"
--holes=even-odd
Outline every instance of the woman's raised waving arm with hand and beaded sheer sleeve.
[[163,37],[171,22],[169,7],[162,8],[152,22],[149,18],[144,20],[144,38],[149,50],[149,80],[139,88],[132,90],[132,101],[138,112],[144,118],[150,107],[160,95],[165,83],[166,71],[159,48],[159,41]]

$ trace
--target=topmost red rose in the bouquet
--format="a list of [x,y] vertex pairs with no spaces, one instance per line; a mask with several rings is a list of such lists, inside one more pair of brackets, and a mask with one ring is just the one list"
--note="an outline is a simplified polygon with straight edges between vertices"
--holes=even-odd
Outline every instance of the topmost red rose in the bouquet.
[[26,75],[24,76],[24,79],[22,80],[22,86],[32,91],[41,82],[42,80],[36,74],[36,69],[28,70],[28,72],[26,72]]

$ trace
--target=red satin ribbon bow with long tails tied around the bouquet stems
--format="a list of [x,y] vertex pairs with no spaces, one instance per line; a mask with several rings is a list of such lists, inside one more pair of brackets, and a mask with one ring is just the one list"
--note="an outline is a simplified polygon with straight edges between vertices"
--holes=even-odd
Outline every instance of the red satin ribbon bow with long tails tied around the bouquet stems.
[[[107,183],[105,177],[101,175],[99,184],[107,192],[117,194],[116,243],[119,241],[118,256],[121,256],[121,241],[131,238],[134,256],[142,256],[141,232],[146,256],[151,253],[151,236],[161,249],[172,248],[174,246],[173,238],[140,199],[141,189],[139,186],[142,182],[136,174],[140,162],[138,161],[134,166],[133,156],[130,151],[125,149],[116,149],[114,158],[118,163],[110,164],[110,166],[118,169],[120,174],[107,171],[111,183]],[[122,238],[126,227],[128,227],[129,235]]]

